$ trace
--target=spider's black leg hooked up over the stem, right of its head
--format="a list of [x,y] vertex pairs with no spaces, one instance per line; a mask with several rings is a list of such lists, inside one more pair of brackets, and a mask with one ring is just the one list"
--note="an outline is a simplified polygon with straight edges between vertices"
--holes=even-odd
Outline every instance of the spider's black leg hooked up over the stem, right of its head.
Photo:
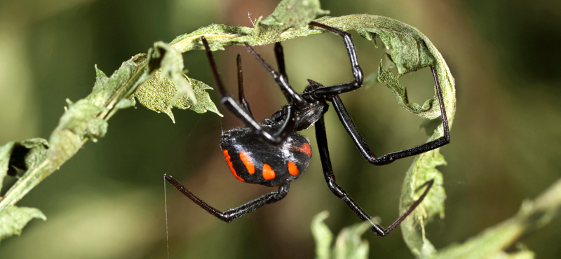
[[326,97],[326,96],[342,94],[344,92],[351,92],[353,90],[358,89],[358,87],[362,86],[363,78],[364,78],[363,69],[361,69],[360,65],[358,64],[358,57],[356,57],[356,48],[353,43],[353,38],[351,38],[351,34],[349,34],[346,31],[342,31],[340,29],[330,27],[328,25],[323,25],[319,22],[310,22],[309,25],[320,27],[322,29],[327,29],[328,31],[333,32],[334,34],[339,34],[339,36],[343,37],[346,51],[349,53],[349,58],[351,59],[353,76],[355,78],[355,80],[349,83],[342,83],[339,85],[329,85],[313,90],[310,93],[311,97],[313,97],[313,99],[322,99],[322,97]]

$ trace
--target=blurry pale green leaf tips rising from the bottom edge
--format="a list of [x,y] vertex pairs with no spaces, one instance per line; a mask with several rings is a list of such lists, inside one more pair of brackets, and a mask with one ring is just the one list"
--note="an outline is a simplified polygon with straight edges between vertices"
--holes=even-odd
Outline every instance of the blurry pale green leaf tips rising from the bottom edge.
[[333,234],[323,223],[329,216],[327,211],[313,217],[311,230],[316,240],[317,259],[366,259],[368,258],[368,241],[360,236],[370,229],[370,222],[363,222],[344,228],[339,232],[333,248],[330,248]]

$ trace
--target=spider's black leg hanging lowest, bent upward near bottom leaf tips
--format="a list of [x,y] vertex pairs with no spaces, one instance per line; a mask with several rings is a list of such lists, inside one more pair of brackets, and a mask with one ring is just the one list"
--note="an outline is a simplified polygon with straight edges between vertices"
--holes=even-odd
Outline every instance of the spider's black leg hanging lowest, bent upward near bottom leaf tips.
[[[327,182],[327,186],[330,188],[330,190],[335,196],[339,197],[347,205],[349,205],[349,207],[351,207],[351,209],[356,214],[356,216],[358,216],[358,218],[360,218],[362,221],[370,221],[370,218],[372,217],[370,217],[370,215],[368,215],[362,208],[360,208],[360,206],[358,206],[358,204],[356,204],[356,202],[347,193],[345,193],[345,191],[340,186],[338,186],[337,183],[335,182],[335,175],[333,174],[333,168],[331,166],[331,159],[329,156],[329,148],[327,147],[327,135],[325,134],[325,123],[323,121],[323,116],[322,118],[320,118],[320,120],[316,122],[316,138],[318,140],[318,150],[320,153],[321,166],[323,167],[323,175],[325,176],[325,181]],[[381,227],[381,225],[374,224],[372,223],[372,221],[370,221],[370,223],[372,223],[372,227],[370,228],[370,230],[376,233],[378,237],[385,237],[386,235],[388,235],[389,232],[397,228],[398,225],[409,214],[411,214],[411,212],[415,208],[417,208],[419,204],[421,204],[426,194],[428,193],[428,190],[430,190],[431,187],[433,186],[433,182],[434,181],[431,180],[425,183],[427,187],[424,193],[421,195],[421,197],[419,197],[419,199],[417,199],[417,201],[415,201],[411,205],[411,207],[409,207],[409,209],[407,209],[407,211],[405,211],[405,213],[403,213],[388,228],[383,228]]]

